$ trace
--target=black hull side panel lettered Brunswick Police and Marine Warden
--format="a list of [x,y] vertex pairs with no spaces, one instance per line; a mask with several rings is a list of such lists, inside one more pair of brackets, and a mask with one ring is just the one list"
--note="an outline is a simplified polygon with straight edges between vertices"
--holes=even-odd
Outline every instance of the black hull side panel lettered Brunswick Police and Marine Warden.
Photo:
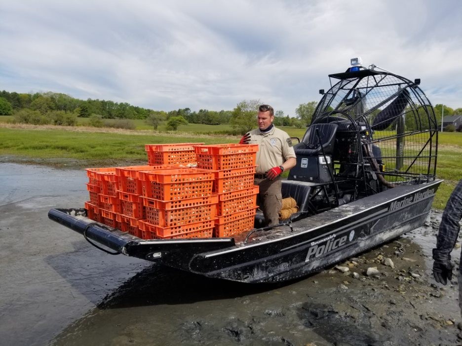
[[272,230],[274,239],[198,254],[189,270],[244,282],[309,275],[422,226],[440,182],[398,186]]

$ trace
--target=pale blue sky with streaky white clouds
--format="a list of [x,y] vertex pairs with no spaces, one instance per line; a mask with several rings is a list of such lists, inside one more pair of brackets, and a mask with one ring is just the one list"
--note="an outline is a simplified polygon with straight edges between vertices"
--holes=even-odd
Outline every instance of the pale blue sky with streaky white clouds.
[[362,57],[462,107],[460,0],[0,0],[0,90],[295,116]]

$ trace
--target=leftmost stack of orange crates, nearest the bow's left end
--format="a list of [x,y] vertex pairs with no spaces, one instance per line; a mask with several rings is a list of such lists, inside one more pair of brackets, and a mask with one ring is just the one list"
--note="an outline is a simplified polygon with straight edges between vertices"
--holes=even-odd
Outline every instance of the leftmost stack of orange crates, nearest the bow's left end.
[[117,195],[115,167],[87,168],[89,182],[86,184],[90,200],[85,203],[87,216],[111,227],[118,227],[116,213],[120,202]]

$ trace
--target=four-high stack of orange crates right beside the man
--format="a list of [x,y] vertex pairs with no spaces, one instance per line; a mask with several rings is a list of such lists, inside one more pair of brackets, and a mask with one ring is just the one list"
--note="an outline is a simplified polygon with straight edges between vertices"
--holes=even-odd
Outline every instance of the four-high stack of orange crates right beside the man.
[[258,144],[196,145],[197,167],[214,170],[218,194],[214,237],[231,237],[254,226],[258,186],[254,185]]

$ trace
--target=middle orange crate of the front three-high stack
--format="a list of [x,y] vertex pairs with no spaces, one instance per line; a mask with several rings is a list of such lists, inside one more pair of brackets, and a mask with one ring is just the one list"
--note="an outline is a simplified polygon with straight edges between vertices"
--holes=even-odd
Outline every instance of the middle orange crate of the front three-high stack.
[[[193,222],[214,219],[217,214],[218,196],[192,198],[175,201],[157,201],[144,199],[146,219],[149,223],[161,227],[184,225]],[[174,208],[161,208],[174,204]],[[160,208],[159,208],[160,207]]]

